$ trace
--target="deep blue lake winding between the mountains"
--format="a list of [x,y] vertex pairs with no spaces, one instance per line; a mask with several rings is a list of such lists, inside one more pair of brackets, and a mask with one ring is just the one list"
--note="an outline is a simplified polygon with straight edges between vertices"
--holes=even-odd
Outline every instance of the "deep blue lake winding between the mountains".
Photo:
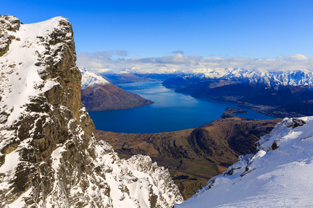
[[119,84],[129,92],[154,101],[151,105],[126,110],[89,112],[97,130],[125,133],[155,133],[196,128],[219,119],[227,107],[248,111],[236,114],[246,119],[273,119],[239,104],[193,98],[167,89],[161,82]]

